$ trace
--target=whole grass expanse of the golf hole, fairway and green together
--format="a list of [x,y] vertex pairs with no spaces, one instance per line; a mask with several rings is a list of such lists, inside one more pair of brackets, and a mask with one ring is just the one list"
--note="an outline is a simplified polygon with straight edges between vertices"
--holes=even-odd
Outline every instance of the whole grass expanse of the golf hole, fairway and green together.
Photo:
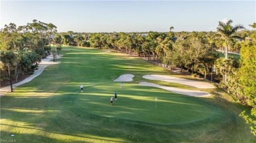
[[[1,140],[16,142],[255,142],[238,117],[244,106],[223,90],[188,97],[139,86],[145,74],[171,72],[137,57],[64,46],[58,65],[1,97]],[[134,74],[133,82],[113,82]],[[175,76],[175,75],[174,75]],[[150,80],[164,86],[197,89]],[[84,92],[79,92],[83,84]],[[118,100],[110,106],[110,97]],[[155,97],[158,97],[157,108]],[[15,136],[10,136],[15,134]]]

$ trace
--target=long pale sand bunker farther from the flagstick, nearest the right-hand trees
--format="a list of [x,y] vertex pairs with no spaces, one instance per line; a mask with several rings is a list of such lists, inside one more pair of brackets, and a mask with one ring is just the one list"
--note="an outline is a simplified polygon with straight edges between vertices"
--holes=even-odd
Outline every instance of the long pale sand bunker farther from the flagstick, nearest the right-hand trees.
[[215,88],[215,86],[205,82],[197,82],[194,80],[187,80],[184,78],[176,78],[172,76],[163,76],[159,74],[145,75],[145,76],[142,76],[142,78],[146,78],[148,80],[161,80],[164,82],[173,82],[177,84],[184,84],[186,86],[193,86],[198,88]]

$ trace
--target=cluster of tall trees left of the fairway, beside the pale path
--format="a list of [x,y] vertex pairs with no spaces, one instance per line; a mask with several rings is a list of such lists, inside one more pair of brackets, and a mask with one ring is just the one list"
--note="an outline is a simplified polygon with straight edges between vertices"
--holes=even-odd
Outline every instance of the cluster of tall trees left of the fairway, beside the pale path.
[[[37,20],[18,27],[5,25],[0,31],[1,80],[9,78],[11,82],[14,75],[17,81],[18,75],[33,72],[42,58],[60,50],[61,39],[53,38],[56,32],[54,24]],[[51,44],[56,48],[51,49]]]

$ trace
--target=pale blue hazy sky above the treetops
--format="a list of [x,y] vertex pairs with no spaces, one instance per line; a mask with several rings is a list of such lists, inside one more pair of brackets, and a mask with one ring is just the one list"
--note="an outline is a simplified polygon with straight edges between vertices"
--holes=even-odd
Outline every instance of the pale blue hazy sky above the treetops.
[[8,1],[0,0],[0,29],[38,20],[58,32],[217,31],[219,22],[256,22],[252,1]]

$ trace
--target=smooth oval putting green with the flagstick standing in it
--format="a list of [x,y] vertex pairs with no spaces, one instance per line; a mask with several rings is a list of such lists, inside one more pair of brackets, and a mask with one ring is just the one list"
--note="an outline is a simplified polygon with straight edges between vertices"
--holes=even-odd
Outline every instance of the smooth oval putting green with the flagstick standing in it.
[[[94,89],[98,89],[96,92],[89,87],[86,92],[79,93],[75,99],[76,103],[84,111],[99,116],[150,123],[183,123],[214,114],[206,104],[161,89],[141,87],[137,84],[125,84],[123,89],[114,89],[117,84],[108,84],[107,91],[100,90],[103,86],[94,86]],[[117,91],[117,101],[114,100],[114,106],[110,106],[110,97],[114,97],[114,91]]]

